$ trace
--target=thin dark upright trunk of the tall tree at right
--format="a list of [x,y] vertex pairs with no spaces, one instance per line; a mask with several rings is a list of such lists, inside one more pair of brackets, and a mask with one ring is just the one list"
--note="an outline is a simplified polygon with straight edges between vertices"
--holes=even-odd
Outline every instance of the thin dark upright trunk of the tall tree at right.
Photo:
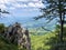
[[62,2],[59,0],[59,6],[58,6],[58,9],[59,9],[59,20],[61,20],[61,33],[59,33],[59,41],[63,42],[63,28],[64,28],[64,22],[63,22],[63,12],[62,12]]

